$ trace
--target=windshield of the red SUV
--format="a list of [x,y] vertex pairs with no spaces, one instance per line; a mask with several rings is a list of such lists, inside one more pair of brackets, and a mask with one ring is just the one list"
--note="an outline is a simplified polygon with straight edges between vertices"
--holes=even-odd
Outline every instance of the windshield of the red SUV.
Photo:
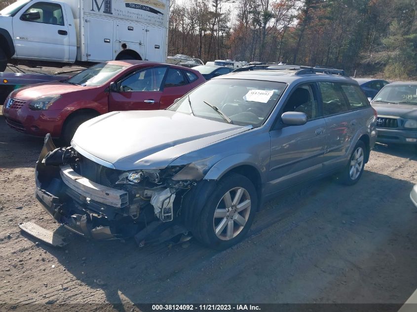
[[100,63],[77,73],[67,80],[68,83],[80,86],[99,86],[112,79],[126,67],[108,63]]

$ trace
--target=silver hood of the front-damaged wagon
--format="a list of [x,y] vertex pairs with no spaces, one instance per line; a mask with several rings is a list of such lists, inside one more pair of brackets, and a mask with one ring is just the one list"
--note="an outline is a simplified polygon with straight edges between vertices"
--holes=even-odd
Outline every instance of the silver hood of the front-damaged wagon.
[[162,169],[184,154],[249,129],[170,110],[111,112],[83,123],[71,145],[118,170]]

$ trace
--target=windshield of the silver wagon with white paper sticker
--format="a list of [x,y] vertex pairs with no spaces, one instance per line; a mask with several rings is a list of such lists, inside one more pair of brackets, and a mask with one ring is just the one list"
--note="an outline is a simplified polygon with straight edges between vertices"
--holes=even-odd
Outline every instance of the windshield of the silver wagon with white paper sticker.
[[282,82],[213,79],[168,109],[240,126],[259,127],[275,107],[286,86]]

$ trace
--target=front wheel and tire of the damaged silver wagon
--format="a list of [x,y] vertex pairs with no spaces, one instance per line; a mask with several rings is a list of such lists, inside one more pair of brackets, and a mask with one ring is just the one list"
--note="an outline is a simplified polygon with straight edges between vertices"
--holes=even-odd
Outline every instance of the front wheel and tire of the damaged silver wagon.
[[[227,193],[230,195],[230,204],[232,204],[229,209],[226,205],[227,199],[224,199]],[[242,195],[239,197],[237,194]],[[253,183],[243,175],[227,174],[217,183],[201,214],[194,221],[196,222],[194,228],[198,231],[198,233],[194,233],[194,237],[208,247],[217,250],[227,249],[239,243],[245,237],[252,225],[257,207],[258,195]],[[239,209],[242,210],[239,211]],[[215,219],[214,213],[216,210],[222,216]],[[223,214],[226,216],[223,216]],[[243,220],[246,221],[242,226]],[[227,225],[222,231],[218,232],[218,235],[223,237],[222,239],[216,235],[215,228],[220,230],[221,224],[225,223]]]

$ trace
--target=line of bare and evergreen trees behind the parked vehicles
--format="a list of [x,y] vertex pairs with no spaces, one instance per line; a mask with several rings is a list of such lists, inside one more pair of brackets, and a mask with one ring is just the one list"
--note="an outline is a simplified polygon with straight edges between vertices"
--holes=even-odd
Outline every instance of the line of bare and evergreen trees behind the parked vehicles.
[[[417,75],[416,0],[171,2],[170,54]],[[228,8],[228,9],[227,9]]]

